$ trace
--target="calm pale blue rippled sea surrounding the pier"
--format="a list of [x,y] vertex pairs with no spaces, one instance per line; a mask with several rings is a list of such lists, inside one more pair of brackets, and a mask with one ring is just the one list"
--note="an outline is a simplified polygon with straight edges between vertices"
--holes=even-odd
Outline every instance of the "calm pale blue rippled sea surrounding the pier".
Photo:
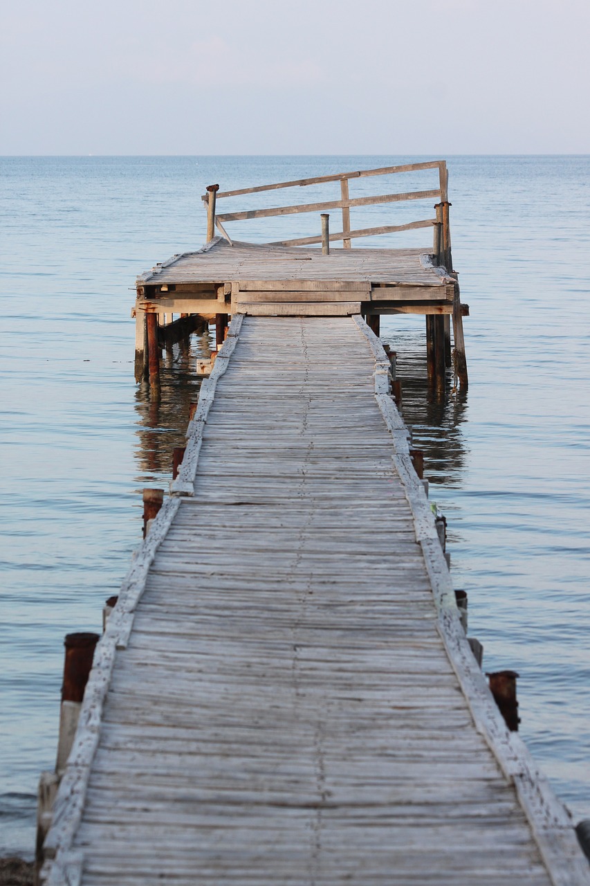
[[[55,764],[63,637],[100,630],[140,541],[141,489],[167,486],[191,368],[208,348],[193,337],[190,353],[168,354],[159,403],[136,387],[136,274],[202,244],[207,184],[408,159],[0,158],[0,853],[33,852],[36,783]],[[399,354],[404,415],[446,513],[485,670],[520,673],[521,734],[575,818],[590,817],[590,158],[454,157],[449,169],[469,393],[429,395],[423,318],[389,318],[382,335]],[[393,188],[436,186],[400,179]],[[351,196],[382,182],[353,182]],[[361,210],[353,227],[429,218],[431,205]],[[276,239],[317,222],[232,230]]]

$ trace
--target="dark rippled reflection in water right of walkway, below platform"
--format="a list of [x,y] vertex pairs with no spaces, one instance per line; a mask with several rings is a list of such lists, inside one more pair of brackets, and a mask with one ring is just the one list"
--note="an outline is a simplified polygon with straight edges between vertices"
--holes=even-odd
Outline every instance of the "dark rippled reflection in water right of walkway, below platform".
[[398,330],[390,321],[384,324],[382,338],[398,355],[403,418],[415,447],[423,449],[426,475],[432,483],[461,485],[467,455],[462,424],[467,420],[468,393],[450,393],[452,369],[447,370],[445,396],[428,384],[425,331],[415,326]]

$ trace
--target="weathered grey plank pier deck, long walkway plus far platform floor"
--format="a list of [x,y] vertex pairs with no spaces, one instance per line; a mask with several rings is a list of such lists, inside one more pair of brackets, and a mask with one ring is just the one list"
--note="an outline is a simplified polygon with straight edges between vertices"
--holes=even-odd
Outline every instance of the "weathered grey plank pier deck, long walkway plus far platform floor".
[[360,315],[380,283],[389,310],[446,306],[449,286],[452,305],[453,278],[415,253],[390,285],[401,263],[374,251],[366,279],[351,263],[338,280],[295,268],[307,246],[211,243],[140,282],[145,314],[170,291],[200,314],[198,268],[207,312],[233,316],[97,645],[43,882],[587,886],[571,818],[473,656]]

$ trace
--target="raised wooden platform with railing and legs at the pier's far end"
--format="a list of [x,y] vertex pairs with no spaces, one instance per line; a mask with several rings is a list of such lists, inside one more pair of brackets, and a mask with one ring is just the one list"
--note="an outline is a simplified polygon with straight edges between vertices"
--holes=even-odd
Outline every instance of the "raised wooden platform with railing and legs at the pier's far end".
[[[349,185],[354,180],[405,173],[432,174],[432,171],[438,174],[438,187],[434,189],[350,197]],[[339,184],[338,200],[216,214],[221,198],[266,195],[273,190],[330,183]],[[459,283],[453,269],[447,184],[446,163],[437,160],[242,190],[221,192],[218,185],[207,188],[204,196],[208,209],[206,246],[196,253],[175,255],[137,278],[137,299],[133,310],[136,317],[136,380],[150,377],[151,385],[159,385],[155,351],[158,323],[164,317],[197,314],[220,319],[235,314],[237,310],[257,316],[361,314],[378,335],[381,315],[420,314],[426,318],[431,384],[439,392],[444,392],[446,369],[454,365],[456,383],[466,389],[468,375],[462,317],[469,313],[469,307],[461,303]],[[438,201],[431,218],[378,228],[351,229],[351,208],[429,199]],[[342,230],[330,233],[326,211],[335,209],[342,213]],[[302,213],[312,214],[314,219],[322,214],[322,249],[314,247],[322,242],[319,223],[316,235],[262,245],[234,241],[224,227],[232,221]],[[222,236],[213,237],[215,225]],[[353,241],[361,237],[414,229],[430,229],[432,245],[421,249],[352,248]],[[331,249],[330,244],[338,241],[342,241],[343,248]],[[454,346],[451,344],[451,318]]]

